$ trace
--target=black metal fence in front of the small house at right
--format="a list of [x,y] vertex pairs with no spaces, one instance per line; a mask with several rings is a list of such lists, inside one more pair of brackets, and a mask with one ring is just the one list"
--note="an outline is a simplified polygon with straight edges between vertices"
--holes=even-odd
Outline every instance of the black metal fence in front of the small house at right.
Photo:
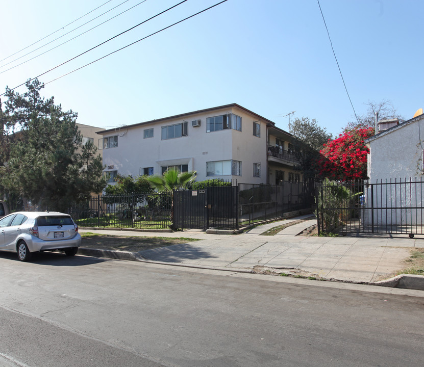
[[424,234],[422,178],[316,186],[318,231]]

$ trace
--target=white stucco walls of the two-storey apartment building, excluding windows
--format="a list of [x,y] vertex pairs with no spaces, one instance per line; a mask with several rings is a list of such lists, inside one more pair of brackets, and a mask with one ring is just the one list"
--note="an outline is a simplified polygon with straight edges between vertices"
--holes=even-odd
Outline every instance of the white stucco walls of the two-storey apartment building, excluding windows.
[[[242,131],[234,129],[206,132],[206,118],[233,113],[242,118]],[[191,121],[201,119],[199,127]],[[188,136],[161,140],[161,126],[188,121]],[[253,135],[253,121],[258,117],[236,107],[215,110],[161,120],[149,124],[121,128],[105,134],[118,135],[118,146],[103,150],[103,163],[113,166],[119,174],[138,176],[140,167],[154,167],[161,173],[161,166],[188,164],[189,170],[197,171],[197,181],[209,178],[237,179],[243,183],[266,182],[266,124],[261,122],[261,137]],[[154,128],[154,137],[143,139],[143,130]],[[242,176],[206,176],[206,162],[237,160],[242,162]],[[261,163],[261,177],[253,177],[253,164]]]

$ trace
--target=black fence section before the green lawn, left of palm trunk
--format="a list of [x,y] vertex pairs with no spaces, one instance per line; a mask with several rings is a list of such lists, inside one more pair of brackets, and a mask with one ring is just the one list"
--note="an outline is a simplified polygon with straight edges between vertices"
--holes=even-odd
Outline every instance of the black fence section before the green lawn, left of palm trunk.
[[73,204],[69,214],[79,226],[168,228],[172,195],[98,195]]

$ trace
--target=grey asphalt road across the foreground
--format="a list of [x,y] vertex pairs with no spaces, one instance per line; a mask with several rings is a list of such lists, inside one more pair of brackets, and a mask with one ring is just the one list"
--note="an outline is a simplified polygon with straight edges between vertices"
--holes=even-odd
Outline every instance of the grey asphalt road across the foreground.
[[0,253],[0,366],[416,366],[424,358],[422,291],[56,253],[15,258]]

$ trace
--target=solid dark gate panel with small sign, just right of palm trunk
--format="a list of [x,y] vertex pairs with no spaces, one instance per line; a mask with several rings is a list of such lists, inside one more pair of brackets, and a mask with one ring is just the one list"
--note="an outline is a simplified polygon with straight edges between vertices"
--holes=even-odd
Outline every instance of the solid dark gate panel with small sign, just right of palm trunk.
[[208,229],[207,190],[174,191],[176,228]]

